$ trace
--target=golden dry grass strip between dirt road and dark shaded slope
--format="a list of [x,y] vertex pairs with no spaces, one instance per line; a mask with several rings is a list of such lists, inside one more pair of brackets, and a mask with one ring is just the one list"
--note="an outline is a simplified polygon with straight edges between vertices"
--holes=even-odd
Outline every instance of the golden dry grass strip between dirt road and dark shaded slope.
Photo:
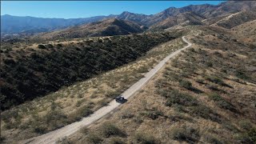
[[[143,77],[143,74],[172,51],[182,48],[181,38],[150,50],[136,62],[118,69],[62,87],[43,98],[36,98],[2,113],[2,135],[6,142],[31,138],[65,126],[98,110],[123,90]],[[10,120],[11,119],[11,120]]]

